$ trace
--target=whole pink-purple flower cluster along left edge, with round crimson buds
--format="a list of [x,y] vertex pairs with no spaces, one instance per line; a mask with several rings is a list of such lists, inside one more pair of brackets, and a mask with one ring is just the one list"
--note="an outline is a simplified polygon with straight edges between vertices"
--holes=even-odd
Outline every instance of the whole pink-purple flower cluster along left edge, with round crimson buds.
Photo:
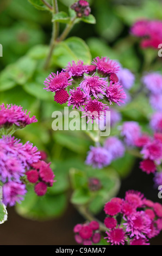
[[[29,114],[21,106],[7,105],[5,108],[4,104],[0,106],[0,120],[2,133],[12,125],[22,128],[37,121],[35,117],[29,118]],[[10,135],[0,138],[0,181],[3,184],[3,203],[6,206],[21,203],[27,193],[26,178],[35,183],[34,189],[38,196],[43,196],[47,186],[53,185],[54,174],[49,164],[40,161],[41,157],[45,157],[45,154],[40,154],[29,141],[23,144]],[[39,172],[36,170],[38,164]],[[31,170],[34,166],[35,169]]]

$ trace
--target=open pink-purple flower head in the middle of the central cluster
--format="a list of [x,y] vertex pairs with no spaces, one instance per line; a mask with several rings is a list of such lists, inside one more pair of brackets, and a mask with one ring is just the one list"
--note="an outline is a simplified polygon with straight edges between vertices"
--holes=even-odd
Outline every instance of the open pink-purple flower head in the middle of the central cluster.
[[105,94],[105,89],[108,86],[108,82],[105,78],[100,78],[96,76],[95,73],[92,76],[85,76],[84,80],[80,83],[80,88],[84,90],[84,92],[90,96],[94,96],[103,99],[103,95]]

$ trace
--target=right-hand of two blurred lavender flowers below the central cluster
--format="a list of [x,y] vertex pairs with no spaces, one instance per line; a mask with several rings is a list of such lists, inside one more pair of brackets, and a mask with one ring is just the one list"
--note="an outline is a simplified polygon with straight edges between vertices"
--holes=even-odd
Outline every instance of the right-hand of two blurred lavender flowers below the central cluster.
[[125,148],[122,141],[115,136],[109,137],[105,140],[104,148],[109,151],[109,153],[112,155],[113,160],[122,157],[125,152]]

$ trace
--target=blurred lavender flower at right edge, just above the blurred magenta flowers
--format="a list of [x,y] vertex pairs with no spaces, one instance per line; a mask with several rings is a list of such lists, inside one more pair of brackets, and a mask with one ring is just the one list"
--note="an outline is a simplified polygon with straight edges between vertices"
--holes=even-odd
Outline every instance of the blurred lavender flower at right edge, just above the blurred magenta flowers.
[[157,112],[151,116],[149,121],[151,129],[155,132],[162,132],[162,113]]

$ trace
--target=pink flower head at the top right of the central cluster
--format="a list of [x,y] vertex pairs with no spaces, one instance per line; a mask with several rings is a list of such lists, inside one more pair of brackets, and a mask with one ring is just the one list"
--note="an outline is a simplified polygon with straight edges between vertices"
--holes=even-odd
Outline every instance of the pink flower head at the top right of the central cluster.
[[107,57],[96,57],[92,64],[96,65],[98,73],[103,76],[108,76],[111,73],[116,74],[120,70],[119,64]]

